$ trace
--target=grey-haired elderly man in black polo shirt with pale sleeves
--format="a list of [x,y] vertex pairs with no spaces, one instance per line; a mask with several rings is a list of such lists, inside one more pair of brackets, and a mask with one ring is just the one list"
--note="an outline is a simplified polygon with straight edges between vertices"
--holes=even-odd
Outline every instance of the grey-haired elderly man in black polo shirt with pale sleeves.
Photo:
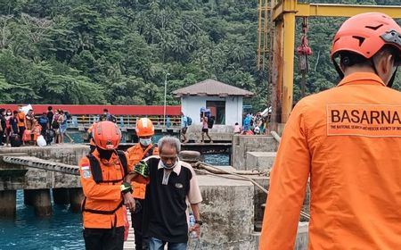
[[[148,180],[143,208],[143,236],[149,238],[150,250],[184,250],[188,231],[201,233],[199,204],[202,201],[195,172],[190,164],[178,159],[181,144],[176,137],[162,137],[160,156],[148,157],[135,166],[126,181],[140,181],[140,173]],[[161,161],[160,161],[161,160]],[[186,209],[188,200],[195,217],[195,225],[188,229]]]

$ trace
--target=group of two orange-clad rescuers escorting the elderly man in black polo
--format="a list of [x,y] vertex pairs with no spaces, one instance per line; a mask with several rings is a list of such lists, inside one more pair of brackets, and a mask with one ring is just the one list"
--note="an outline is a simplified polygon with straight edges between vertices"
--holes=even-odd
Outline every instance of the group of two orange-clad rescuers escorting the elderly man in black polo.
[[[201,191],[192,166],[178,158],[176,137],[162,137],[154,145],[153,123],[142,118],[135,126],[139,143],[123,152],[117,150],[121,131],[114,122],[95,122],[90,131],[91,153],[79,162],[86,249],[122,250],[127,209],[137,250],[165,245],[184,250],[189,232],[200,237]],[[190,212],[192,226],[187,223]]]

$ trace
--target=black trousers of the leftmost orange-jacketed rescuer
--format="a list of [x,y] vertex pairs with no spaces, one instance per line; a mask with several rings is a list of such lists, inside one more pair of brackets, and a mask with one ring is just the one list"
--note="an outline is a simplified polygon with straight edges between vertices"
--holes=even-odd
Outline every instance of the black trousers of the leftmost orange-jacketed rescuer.
[[124,227],[115,229],[84,229],[86,250],[123,250]]

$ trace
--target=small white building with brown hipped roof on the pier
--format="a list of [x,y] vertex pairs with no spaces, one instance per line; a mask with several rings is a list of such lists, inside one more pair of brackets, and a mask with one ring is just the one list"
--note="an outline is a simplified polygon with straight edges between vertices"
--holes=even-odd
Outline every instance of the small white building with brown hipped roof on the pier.
[[193,124],[201,124],[201,108],[210,109],[217,125],[242,123],[242,98],[253,96],[248,90],[206,79],[194,85],[176,89],[173,94],[181,97],[181,111],[192,118]]

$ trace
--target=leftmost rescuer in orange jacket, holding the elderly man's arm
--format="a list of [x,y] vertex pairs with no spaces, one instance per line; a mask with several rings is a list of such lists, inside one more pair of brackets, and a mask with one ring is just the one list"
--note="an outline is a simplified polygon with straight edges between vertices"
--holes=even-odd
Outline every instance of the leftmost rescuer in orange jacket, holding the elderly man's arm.
[[135,208],[130,183],[123,182],[131,168],[127,154],[116,151],[121,132],[111,121],[101,121],[92,130],[96,149],[79,162],[84,190],[82,212],[84,239],[88,250],[124,246],[124,206]]

